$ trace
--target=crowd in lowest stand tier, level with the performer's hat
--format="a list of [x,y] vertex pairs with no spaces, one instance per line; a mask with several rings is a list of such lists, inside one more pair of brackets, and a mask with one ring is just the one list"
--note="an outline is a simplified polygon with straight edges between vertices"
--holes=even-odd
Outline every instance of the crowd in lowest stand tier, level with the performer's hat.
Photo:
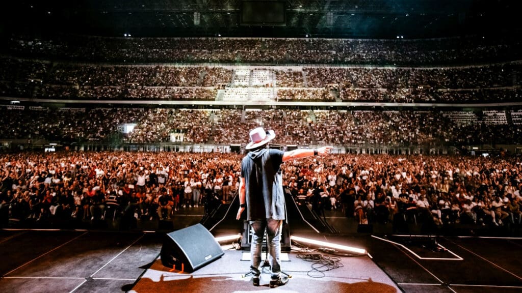
[[[0,107],[0,137],[62,142],[244,144],[256,126],[276,143],[339,146],[520,144],[520,111]],[[122,127],[133,125],[124,133]]]

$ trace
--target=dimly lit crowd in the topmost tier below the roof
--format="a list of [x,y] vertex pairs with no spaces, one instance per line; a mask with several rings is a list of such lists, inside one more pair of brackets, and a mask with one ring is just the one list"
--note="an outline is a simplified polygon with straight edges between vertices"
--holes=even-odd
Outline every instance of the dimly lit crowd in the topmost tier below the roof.
[[270,63],[270,64],[467,64],[520,59],[514,36],[469,36],[430,40],[98,38],[13,36],[9,55],[75,62]]

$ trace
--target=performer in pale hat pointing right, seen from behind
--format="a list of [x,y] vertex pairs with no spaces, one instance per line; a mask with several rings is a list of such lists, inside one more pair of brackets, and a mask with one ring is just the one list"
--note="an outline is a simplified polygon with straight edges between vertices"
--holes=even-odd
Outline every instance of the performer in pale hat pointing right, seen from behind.
[[288,277],[281,277],[280,265],[281,226],[283,220],[286,219],[286,205],[279,166],[290,160],[313,155],[326,155],[331,149],[331,146],[290,152],[268,149],[267,143],[275,137],[276,133],[273,130],[265,131],[262,127],[250,131],[251,142],[245,147],[250,152],[241,161],[240,207],[236,216],[236,219],[240,219],[245,206],[248,206],[246,217],[254,229],[250,249],[250,268],[254,286],[259,286],[263,235],[265,229],[267,231],[268,260],[271,267],[270,288],[282,286],[288,282]]

